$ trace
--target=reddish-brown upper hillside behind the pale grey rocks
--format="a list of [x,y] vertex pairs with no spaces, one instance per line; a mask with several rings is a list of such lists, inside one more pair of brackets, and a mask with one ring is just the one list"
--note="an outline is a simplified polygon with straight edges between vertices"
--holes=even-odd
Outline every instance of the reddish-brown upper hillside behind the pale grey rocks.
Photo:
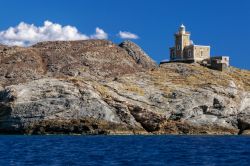
[[107,40],[43,42],[29,48],[0,46],[0,62],[0,84],[4,86],[44,77],[102,79],[156,66],[148,57],[143,59],[147,67],[138,64],[125,49]]

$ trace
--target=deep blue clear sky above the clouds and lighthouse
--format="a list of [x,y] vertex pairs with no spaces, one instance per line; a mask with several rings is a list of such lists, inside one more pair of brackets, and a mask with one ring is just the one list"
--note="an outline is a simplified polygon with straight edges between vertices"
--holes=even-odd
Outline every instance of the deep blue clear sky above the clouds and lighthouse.
[[46,20],[87,35],[99,27],[115,43],[122,41],[119,31],[129,31],[157,62],[168,59],[173,34],[183,23],[195,44],[210,45],[212,55],[228,55],[231,65],[250,69],[248,0],[1,0],[0,20],[0,31]]

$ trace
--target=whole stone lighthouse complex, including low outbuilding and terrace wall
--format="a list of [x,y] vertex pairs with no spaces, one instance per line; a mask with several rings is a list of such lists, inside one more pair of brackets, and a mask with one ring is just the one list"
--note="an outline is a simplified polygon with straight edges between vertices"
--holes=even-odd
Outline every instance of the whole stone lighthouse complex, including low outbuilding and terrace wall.
[[195,45],[190,40],[190,32],[186,31],[182,24],[175,33],[175,46],[170,48],[169,62],[200,63],[203,66],[215,70],[224,70],[229,66],[228,56],[210,57],[210,46]]

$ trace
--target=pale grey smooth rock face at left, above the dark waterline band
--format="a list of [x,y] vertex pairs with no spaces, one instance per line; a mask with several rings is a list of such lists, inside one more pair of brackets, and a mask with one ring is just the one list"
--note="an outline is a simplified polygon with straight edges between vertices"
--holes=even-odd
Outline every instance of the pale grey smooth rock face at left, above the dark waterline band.
[[41,79],[6,87],[0,94],[0,131],[15,133],[34,123],[58,119],[123,123],[116,110],[88,85],[78,88],[65,80]]

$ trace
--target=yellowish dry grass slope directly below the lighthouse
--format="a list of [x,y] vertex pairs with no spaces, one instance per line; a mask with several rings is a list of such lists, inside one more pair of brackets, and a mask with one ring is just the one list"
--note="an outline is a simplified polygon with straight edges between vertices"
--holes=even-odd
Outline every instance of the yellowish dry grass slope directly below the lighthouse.
[[[181,67],[182,70],[176,69],[177,67]],[[237,87],[250,91],[250,71],[233,67],[221,72],[199,65],[181,64],[175,66],[175,64],[168,64],[160,69],[150,71],[149,74],[154,85],[160,88],[166,83],[176,87],[189,86],[191,88],[201,87],[205,84],[227,87],[230,81],[233,81]]]

